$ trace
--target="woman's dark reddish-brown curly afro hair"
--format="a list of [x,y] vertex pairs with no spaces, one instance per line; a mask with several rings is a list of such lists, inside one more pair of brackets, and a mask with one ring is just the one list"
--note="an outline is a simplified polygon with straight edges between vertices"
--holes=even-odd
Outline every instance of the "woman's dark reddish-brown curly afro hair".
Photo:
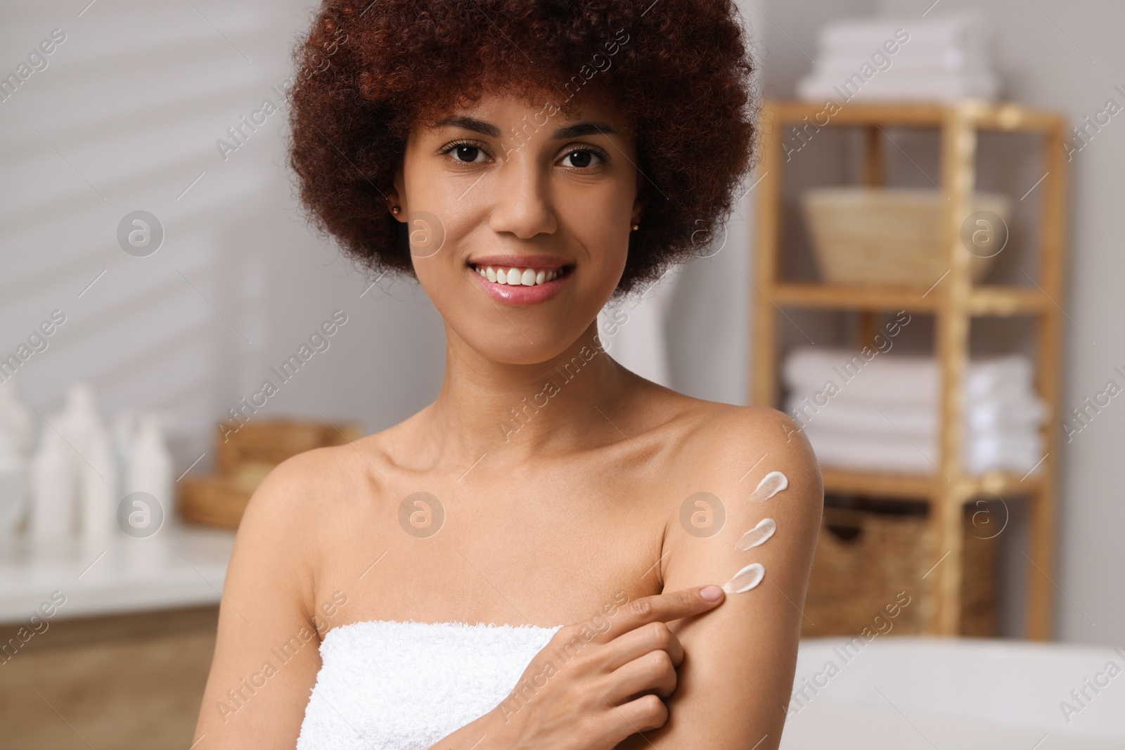
[[567,116],[603,93],[645,178],[627,293],[701,254],[730,214],[756,139],[747,46],[734,0],[324,0],[295,49],[300,201],[361,265],[413,274],[385,200],[412,126],[485,91],[557,91]]

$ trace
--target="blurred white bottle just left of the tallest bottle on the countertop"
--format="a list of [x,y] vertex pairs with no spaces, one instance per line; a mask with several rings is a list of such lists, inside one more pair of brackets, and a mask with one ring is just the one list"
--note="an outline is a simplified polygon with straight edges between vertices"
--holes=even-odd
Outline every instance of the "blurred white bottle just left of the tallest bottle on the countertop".
[[28,532],[37,542],[64,542],[74,532],[74,460],[62,435],[50,425],[39,435],[32,460],[32,521]]

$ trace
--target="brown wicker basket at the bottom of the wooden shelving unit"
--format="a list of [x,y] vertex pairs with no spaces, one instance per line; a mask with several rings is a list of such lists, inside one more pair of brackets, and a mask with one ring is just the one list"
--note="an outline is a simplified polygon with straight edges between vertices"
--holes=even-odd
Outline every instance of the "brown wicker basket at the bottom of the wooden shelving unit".
[[[997,632],[998,543],[979,533],[974,534],[966,510],[961,634],[987,638]],[[826,507],[801,634],[854,635],[864,627],[879,630],[874,622],[880,613],[891,623],[889,632],[936,633],[938,576],[927,573],[942,554],[924,515]],[[909,604],[889,618],[886,607],[900,591],[910,597]]]

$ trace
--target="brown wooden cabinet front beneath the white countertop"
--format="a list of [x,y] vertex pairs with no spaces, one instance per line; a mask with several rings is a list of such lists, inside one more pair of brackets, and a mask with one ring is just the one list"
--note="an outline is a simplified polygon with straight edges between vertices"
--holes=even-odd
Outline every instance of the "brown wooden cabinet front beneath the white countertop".
[[[216,607],[58,621],[0,663],[0,750],[187,750]],[[17,625],[0,625],[7,640]]]

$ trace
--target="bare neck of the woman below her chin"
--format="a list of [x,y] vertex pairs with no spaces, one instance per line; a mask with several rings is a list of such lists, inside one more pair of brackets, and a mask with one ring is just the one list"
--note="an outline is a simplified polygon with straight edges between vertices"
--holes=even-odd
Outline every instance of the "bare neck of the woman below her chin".
[[641,380],[602,349],[596,320],[561,354],[536,364],[494,362],[448,326],[446,335],[444,381],[426,413],[440,452],[458,463],[485,453],[519,460],[592,448]]

